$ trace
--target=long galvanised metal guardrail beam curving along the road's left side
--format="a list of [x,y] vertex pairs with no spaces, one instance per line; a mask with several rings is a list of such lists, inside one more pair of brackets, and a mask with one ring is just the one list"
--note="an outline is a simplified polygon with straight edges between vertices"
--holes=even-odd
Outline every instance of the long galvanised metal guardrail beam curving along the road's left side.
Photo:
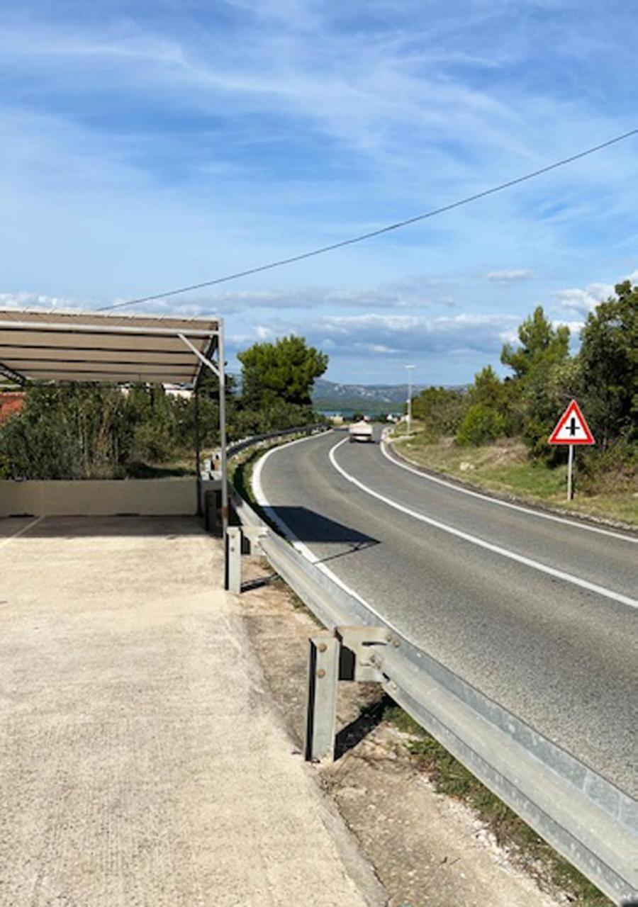
[[387,630],[388,645],[370,660],[388,695],[608,897],[638,905],[638,803],[430,658],[270,530],[234,490],[232,498],[246,533],[260,535],[271,566],[327,628]]

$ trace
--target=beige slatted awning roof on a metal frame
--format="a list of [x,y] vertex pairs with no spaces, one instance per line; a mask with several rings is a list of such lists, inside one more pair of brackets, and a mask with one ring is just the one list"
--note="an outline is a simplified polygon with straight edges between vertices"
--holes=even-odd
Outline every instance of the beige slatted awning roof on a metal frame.
[[0,309],[0,374],[21,384],[194,385],[220,329],[219,318]]

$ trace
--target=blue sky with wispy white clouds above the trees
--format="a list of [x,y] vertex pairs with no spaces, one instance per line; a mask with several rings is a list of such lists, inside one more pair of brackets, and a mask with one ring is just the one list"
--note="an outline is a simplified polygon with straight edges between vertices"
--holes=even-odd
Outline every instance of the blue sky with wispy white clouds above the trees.
[[[0,305],[98,307],[376,229],[638,126],[633,4],[0,3]],[[328,377],[461,383],[535,305],[638,280],[638,138],[143,310],[294,331]]]

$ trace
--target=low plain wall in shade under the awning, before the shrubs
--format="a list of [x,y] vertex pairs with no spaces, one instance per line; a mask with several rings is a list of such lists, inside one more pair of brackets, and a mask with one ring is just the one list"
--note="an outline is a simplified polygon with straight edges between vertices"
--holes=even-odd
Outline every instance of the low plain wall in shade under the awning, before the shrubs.
[[184,479],[104,479],[83,482],[0,481],[0,517],[189,516],[197,512],[197,482]]

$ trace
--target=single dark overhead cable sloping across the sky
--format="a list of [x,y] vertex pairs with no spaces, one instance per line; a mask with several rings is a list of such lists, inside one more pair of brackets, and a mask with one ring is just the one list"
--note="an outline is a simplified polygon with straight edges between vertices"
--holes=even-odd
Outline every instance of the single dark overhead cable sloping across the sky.
[[563,158],[561,161],[555,161],[554,163],[547,164],[546,167],[541,167],[540,170],[532,171],[531,173],[525,173],[524,176],[516,177],[515,180],[507,180],[506,182],[499,183],[499,185],[497,186],[493,186],[491,189],[476,192],[474,195],[468,195],[465,199],[453,201],[448,205],[443,205],[441,208],[435,208],[433,210],[426,211],[424,214],[417,214],[415,217],[407,218],[405,220],[398,220],[396,223],[388,224],[388,226],[386,227],[373,229],[368,233],[361,233],[359,236],[354,236],[350,239],[342,239],[339,242],[333,242],[329,246],[321,246],[319,247],[319,249],[310,249],[308,252],[299,253],[299,255],[291,255],[290,258],[279,258],[276,261],[268,262],[268,264],[258,265],[256,268],[246,268],[246,270],[236,271],[234,274],[227,274],[221,278],[203,280],[201,283],[191,284],[189,287],[169,289],[163,293],[153,293],[152,296],[142,296],[138,297],[137,299],[128,299],[125,302],[116,302],[111,306],[103,306],[101,308],[98,308],[97,311],[107,312],[115,308],[140,306],[142,305],[142,303],[152,302],[155,299],[165,299],[171,296],[178,296],[181,293],[190,293],[192,290],[196,289],[215,287],[218,284],[228,283],[231,280],[250,277],[251,274],[260,274],[261,271],[270,271],[272,270],[272,268],[283,268],[284,265],[292,265],[296,261],[304,261],[306,258],[314,258],[317,255],[325,255],[326,252],[333,252],[336,249],[344,249],[346,246],[354,246],[355,243],[363,242],[366,239],[374,239],[374,237],[382,236],[384,233],[390,233],[392,230],[401,229],[402,227],[408,227],[410,224],[418,223],[419,220],[427,220],[428,218],[436,217],[437,214],[443,214],[445,211],[451,211],[455,208],[460,208],[462,205],[468,205],[471,201],[485,199],[488,195],[494,195],[496,192],[502,192],[505,189],[510,189],[512,186],[517,186],[521,182],[534,180],[537,176],[542,176],[544,173],[556,170],[558,167],[564,167],[565,164],[579,161],[581,158],[586,158],[589,154],[594,154],[596,151],[603,151],[604,148],[609,148],[610,145],[615,145],[619,141],[630,139],[633,135],[636,134],[638,134],[638,129],[633,129],[630,132],[623,132],[622,135],[616,135],[613,139],[608,139],[607,141],[601,142],[601,144],[599,145],[594,145],[592,148],[587,148],[584,151],[579,151],[577,154],[572,154],[570,157]]

